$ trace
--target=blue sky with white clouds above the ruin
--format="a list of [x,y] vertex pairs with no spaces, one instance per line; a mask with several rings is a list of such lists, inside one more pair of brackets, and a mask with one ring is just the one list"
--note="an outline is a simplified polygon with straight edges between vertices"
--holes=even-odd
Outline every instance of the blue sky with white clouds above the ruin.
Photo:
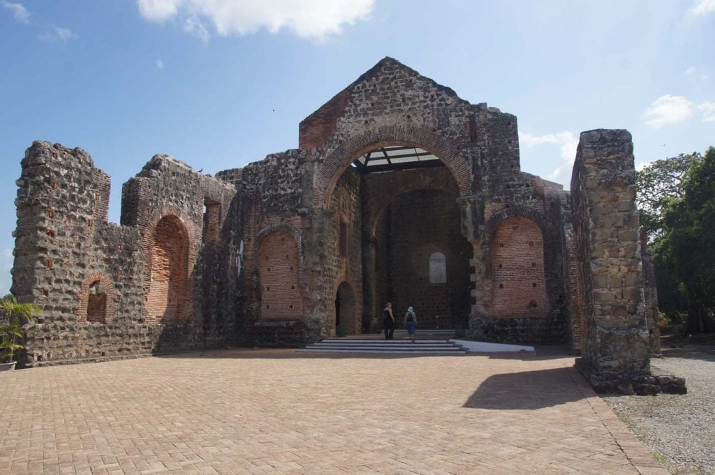
[[715,0],[0,0],[0,295],[35,139],[122,183],[152,155],[214,173],[297,147],[298,123],[385,56],[516,114],[522,170],[568,184],[579,132],[636,163],[715,145]]

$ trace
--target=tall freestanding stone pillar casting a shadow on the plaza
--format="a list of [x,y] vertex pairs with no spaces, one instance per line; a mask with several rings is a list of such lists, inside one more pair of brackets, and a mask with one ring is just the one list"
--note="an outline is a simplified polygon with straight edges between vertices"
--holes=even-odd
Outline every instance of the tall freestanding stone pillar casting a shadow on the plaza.
[[581,133],[571,205],[583,296],[579,371],[600,392],[684,392],[683,378],[651,374],[636,170],[628,131]]

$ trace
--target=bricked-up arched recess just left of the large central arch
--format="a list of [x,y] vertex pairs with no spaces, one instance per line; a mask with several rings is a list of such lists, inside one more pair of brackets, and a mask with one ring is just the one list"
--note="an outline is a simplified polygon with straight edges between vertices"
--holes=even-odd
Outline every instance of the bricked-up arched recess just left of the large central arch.
[[262,238],[258,249],[261,318],[297,320],[302,317],[298,256],[295,239],[287,232],[275,231]]

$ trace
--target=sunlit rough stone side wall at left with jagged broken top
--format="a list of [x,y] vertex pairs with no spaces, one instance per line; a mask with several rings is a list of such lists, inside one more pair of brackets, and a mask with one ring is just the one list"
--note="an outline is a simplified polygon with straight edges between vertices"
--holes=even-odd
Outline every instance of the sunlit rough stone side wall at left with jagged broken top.
[[[124,188],[122,217],[127,223],[117,226],[107,222],[109,176],[94,167],[87,152],[49,142],[34,142],[27,150],[18,180],[11,292],[43,308],[28,333],[28,365],[124,358],[232,339],[232,324],[220,325],[220,336],[205,331],[210,325],[199,311],[205,307],[201,298],[169,298],[166,286],[163,300],[152,298],[148,272],[155,263],[153,270],[163,266],[162,272],[177,273],[166,256],[158,255],[162,245],[157,251],[149,237],[153,239],[164,215],[190,216],[172,223],[193,230],[193,250],[187,249],[179,278],[184,293],[191,292],[194,266],[189,267],[188,259],[193,256],[195,263],[202,250],[204,195],[213,194],[212,199],[228,205],[232,187],[202,177],[169,157],[154,157],[132,180]],[[163,243],[175,247],[169,240]],[[161,287],[161,283],[154,285]],[[154,297],[160,294],[157,290]],[[198,308],[192,308],[194,301]],[[174,309],[167,321],[149,310],[147,303],[152,302],[162,308],[159,313]],[[215,318],[232,320],[225,313]]]

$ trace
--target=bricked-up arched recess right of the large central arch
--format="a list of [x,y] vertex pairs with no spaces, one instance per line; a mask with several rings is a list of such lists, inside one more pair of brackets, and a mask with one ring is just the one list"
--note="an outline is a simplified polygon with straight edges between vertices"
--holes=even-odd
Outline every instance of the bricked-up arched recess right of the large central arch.
[[546,315],[543,233],[533,220],[499,220],[490,239],[489,278],[493,317]]

